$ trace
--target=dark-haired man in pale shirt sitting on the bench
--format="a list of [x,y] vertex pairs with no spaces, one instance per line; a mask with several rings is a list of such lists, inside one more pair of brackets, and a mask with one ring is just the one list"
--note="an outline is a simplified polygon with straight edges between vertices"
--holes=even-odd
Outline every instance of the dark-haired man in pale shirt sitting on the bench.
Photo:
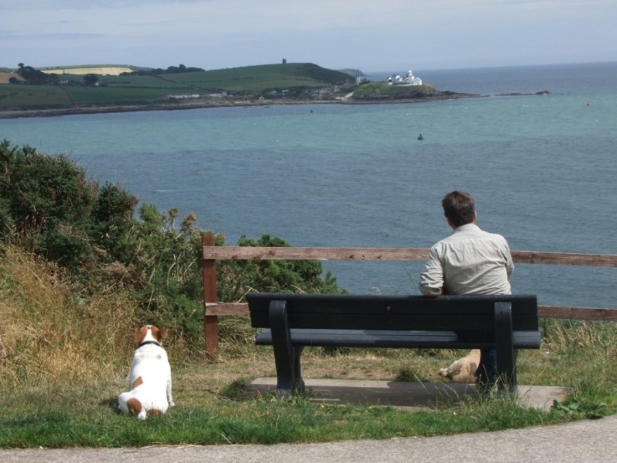
[[[452,235],[431,248],[420,275],[424,296],[441,294],[511,294],[514,270],[505,238],[476,225],[478,214],[469,193],[452,191],[441,201]],[[490,391],[497,381],[496,351],[481,351],[476,378]]]

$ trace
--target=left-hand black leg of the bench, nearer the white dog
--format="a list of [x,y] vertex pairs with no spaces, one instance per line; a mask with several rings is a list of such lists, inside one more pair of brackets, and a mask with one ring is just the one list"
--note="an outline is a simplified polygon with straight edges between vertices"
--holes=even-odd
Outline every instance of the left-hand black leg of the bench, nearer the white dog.
[[270,331],[276,364],[276,392],[291,396],[304,392],[300,357],[302,346],[291,344],[291,331],[287,322],[287,306],[284,300],[273,300],[269,307]]

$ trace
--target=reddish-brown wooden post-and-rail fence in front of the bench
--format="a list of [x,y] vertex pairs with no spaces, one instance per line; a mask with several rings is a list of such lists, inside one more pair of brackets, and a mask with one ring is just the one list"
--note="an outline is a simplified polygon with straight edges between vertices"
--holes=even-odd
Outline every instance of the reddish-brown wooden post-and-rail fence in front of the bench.
[[[204,281],[204,331],[206,353],[213,355],[219,346],[218,317],[248,316],[245,302],[217,302],[216,261],[237,260],[329,260],[329,261],[426,261],[426,248],[259,248],[215,246],[211,233],[202,235],[202,274]],[[617,255],[572,254],[564,252],[511,251],[515,263],[544,265],[585,265],[617,267]],[[612,288],[607,288],[607,291]],[[539,306],[541,318],[617,321],[617,309],[595,307]]]

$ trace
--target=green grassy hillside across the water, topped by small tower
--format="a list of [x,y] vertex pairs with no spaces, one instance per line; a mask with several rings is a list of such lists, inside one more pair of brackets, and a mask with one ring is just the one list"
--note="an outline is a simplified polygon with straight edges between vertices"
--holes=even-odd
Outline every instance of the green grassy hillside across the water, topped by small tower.
[[84,75],[78,74],[59,74],[58,85],[0,85],[0,110],[178,104],[177,100],[170,100],[169,95],[187,93],[197,94],[202,99],[221,92],[239,99],[258,99],[265,95],[270,98],[272,95],[306,97],[311,88],[354,83],[346,73],[311,63],[265,64],[159,75],[97,75],[97,78],[98,86],[84,86]]

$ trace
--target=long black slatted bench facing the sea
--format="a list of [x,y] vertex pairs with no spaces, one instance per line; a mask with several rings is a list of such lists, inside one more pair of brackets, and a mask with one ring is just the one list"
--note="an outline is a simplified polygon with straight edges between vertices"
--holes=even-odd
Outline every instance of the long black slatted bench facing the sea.
[[304,391],[304,346],[491,348],[516,393],[516,350],[540,348],[535,296],[247,294],[256,344],[274,347],[277,392]]

